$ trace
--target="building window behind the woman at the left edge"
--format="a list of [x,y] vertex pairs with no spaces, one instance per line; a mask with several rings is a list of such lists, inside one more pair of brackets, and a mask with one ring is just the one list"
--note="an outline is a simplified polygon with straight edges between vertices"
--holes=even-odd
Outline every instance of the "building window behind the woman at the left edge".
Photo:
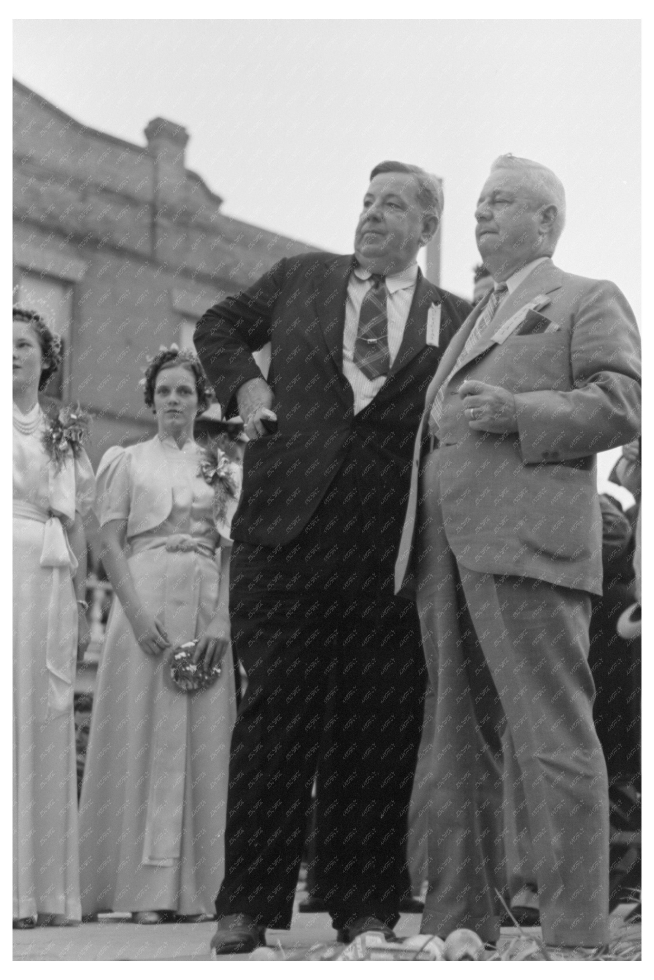
[[62,338],[62,364],[48,381],[44,394],[66,401],[71,378],[73,287],[62,279],[24,272],[19,282],[17,302],[25,309],[40,314]]

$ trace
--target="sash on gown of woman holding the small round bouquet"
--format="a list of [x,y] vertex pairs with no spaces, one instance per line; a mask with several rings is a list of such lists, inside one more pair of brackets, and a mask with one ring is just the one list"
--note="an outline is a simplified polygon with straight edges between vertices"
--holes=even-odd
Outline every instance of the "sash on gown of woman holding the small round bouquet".
[[[190,534],[143,535],[130,548],[132,556],[157,548],[175,553],[174,561],[166,560],[164,627],[174,647],[195,639],[202,560],[214,557],[215,543]],[[161,685],[154,703],[142,863],[171,867],[181,857],[188,695],[171,690],[163,670]]]

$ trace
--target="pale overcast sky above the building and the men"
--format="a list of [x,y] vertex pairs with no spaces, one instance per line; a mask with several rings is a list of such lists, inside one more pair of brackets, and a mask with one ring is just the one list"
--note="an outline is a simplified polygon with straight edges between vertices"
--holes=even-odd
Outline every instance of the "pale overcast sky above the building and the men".
[[556,261],[639,319],[637,21],[17,21],[14,73],[135,143],[182,123],[226,214],[335,252],[372,167],[419,164],[444,180],[441,284],[467,296],[489,164],[541,161],[568,196]]

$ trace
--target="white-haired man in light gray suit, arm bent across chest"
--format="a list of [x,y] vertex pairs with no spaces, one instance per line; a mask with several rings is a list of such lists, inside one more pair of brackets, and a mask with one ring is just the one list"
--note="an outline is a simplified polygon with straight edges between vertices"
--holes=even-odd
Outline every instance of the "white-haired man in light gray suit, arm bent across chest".
[[505,856],[515,821],[545,942],[595,947],[609,882],[587,662],[602,590],[595,454],[638,432],[639,337],[613,283],[552,263],[564,217],[554,173],[495,161],[476,211],[495,288],[428,387],[396,589],[417,592],[437,688],[422,931],[497,939],[495,889],[518,884]]

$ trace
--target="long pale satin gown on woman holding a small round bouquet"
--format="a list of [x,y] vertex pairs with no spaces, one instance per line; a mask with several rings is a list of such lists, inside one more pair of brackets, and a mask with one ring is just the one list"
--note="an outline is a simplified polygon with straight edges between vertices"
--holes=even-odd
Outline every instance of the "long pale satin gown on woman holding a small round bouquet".
[[[174,439],[113,447],[97,472],[101,524],[126,519],[139,599],[176,646],[202,635],[219,594],[214,493],[200,449]],[[220,560],[220,553],[218,556]],[[79,806],[84,915],[214,913],[224,877],[233,661],[207,691],[182,694],[144,654],[121,603],[107,624]]]

